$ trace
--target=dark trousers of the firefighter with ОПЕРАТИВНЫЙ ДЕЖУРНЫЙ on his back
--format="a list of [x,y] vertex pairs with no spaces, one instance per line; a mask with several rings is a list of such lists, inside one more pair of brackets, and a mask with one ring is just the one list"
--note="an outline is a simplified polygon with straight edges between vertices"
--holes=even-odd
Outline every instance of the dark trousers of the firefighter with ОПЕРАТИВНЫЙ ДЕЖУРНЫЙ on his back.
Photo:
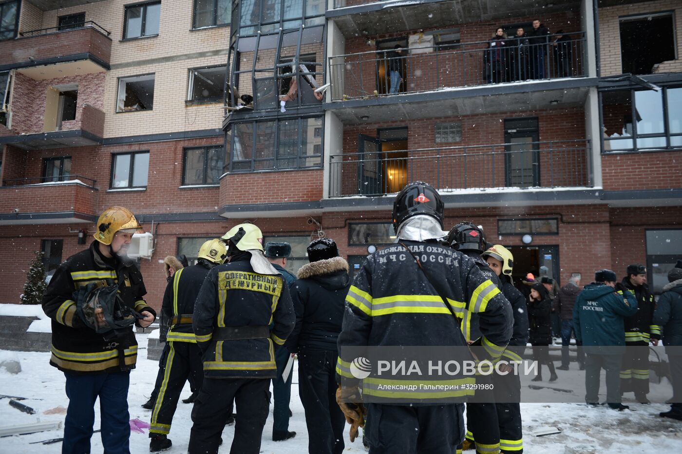
[[270,408],[269,378],[205,377],[192,409],[189,454],[217,454],[225,421],[237,405],[230,454],[258,454]]

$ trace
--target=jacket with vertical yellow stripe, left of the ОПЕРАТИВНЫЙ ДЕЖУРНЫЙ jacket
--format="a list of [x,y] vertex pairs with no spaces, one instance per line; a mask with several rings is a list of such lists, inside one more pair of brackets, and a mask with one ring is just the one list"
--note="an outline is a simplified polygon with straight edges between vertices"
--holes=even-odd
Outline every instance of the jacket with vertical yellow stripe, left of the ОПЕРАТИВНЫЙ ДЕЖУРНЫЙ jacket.
[[170,325],[166,334],[169,342],[196,343],[192,331],[194,301],[210,269],[207,262],[200,259],[197,264],[181,268],[170,277],[161,306],[164,319]]

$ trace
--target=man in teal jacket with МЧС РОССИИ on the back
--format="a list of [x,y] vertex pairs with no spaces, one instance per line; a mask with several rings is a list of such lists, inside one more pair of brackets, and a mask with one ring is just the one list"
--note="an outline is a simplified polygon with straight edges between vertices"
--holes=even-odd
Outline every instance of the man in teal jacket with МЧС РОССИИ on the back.
[[599,405],[599,374],[606,370],[606,402],[614,410],[621,404],[619,371],[625,351],[623,318],[637,312],[637,300],[629,290],[616,290],[616,273],[600,269],[595,282],[578,294],[573,308],[576,337],[585,349],[585,402]]

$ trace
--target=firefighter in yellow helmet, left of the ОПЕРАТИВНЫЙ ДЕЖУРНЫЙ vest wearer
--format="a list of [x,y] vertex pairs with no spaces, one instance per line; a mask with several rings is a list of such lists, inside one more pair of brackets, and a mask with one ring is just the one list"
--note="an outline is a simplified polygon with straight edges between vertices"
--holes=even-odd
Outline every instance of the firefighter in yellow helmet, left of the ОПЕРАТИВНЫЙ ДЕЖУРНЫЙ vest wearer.
[[166,451],[173,444],[167,435],[185,381],[192,376],[197,389],[201,389],[201,350],[196,346],[192,331],[194,301],[206,275],[217,264],[224,262],[226,255],[225,243],[219,239],[205,241],[199,249],[197,263],[175,271],[166,286],[161,310],[164,318],[170,320],[170,329],[166,335],[168,355],[164,377],[151,413],[151,453]]

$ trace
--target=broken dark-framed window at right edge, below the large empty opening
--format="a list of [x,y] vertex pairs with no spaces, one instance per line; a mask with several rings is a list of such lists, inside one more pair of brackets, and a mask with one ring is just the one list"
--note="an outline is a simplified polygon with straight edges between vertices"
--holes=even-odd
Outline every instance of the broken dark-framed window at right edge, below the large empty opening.
[[[629,137],[623,137],[623,138],[614,138],[610,140],[608,137],[604,137],[604,134],[599,134],[600,136],[600,141],[601,141],[601,146],[602,146],[602,155],[611,155],[611,154],[624,154],[624,153],[657,153],[657,152],[664,152],[664,151],[676,151],[682,149],[682,145],[671,145],[671,137],[679,137],[682,138],[682,132],[670,132],[670,117],[669,117],[669,112],[670,109],[668,108],[668,90],[669,89],[681,89],[682,90],[682,84],[679,82],[674,82],[670,85],[661,85],[661,98],[662,98],[662,108],[663,108],[663,129],[664,131],[662,133],[653,133],[653,134],[637,134],[637,102],[635,100],[635,93],[638,91],[654,91],[650,89],[644,89],[642,87],[618,87],[614,89],[606,89],[606,90],[600,90],[599,91],[599,122],[600,122],[600,127],[602,127],[602,130],[604,130],[604,93],[612,93],[614,91],[629,91],[630,93],[630,115],[632,115],[632,136]],[[656,91],[654,91],[657,93]],[[637,140],[638,139],[645,139],[645,138],[665,138],[666,140],[666,145],[664,147],[638,147],[637,145]],[[619,149],[606,149],[606,143],[612,142],[613,140],[632,140],[632,148],[619,148]]]

